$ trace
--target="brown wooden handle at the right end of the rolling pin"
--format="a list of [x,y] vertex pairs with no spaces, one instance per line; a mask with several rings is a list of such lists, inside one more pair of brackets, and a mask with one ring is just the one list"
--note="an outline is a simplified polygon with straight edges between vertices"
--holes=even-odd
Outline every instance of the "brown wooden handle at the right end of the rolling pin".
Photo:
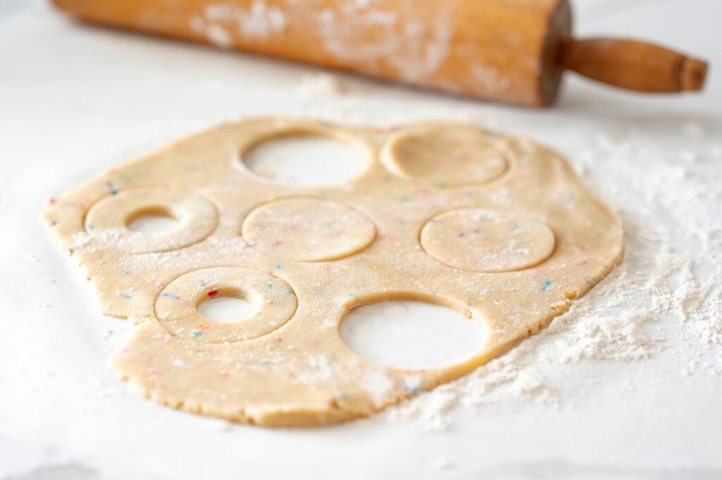
[[707,64],[653,43],[617,38],[565,42],[562,64],[584,77],[637,92],[702,90]]

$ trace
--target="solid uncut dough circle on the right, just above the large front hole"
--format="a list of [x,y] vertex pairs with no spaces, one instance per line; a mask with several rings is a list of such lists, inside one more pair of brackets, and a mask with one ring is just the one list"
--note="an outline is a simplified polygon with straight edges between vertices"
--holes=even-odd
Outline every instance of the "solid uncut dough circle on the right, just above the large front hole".
[[529,269],[554,251],[554,232],[540,219],[492,209],[456,209],[430,219],[421,245],[456,269],[503,272]]

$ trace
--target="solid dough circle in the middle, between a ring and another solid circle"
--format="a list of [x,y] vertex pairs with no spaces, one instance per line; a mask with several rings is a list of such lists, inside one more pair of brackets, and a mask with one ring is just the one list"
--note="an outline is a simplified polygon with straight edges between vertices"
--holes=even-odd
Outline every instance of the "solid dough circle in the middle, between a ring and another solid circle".
[[373,222],[360,211],[320,198],[282,198],[258,206],[241,230],[256,250],[292,261],[351,256],[376,236]]

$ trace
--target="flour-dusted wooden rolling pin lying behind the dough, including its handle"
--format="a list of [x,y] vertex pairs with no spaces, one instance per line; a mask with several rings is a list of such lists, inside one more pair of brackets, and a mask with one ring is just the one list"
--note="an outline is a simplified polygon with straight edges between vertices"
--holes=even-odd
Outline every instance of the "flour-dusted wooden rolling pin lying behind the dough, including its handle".
[[567,0],[53,0],[88,22],[487,100],[546,106],[562,74],[701,90],[707,64],[652,43],[575,39]]

